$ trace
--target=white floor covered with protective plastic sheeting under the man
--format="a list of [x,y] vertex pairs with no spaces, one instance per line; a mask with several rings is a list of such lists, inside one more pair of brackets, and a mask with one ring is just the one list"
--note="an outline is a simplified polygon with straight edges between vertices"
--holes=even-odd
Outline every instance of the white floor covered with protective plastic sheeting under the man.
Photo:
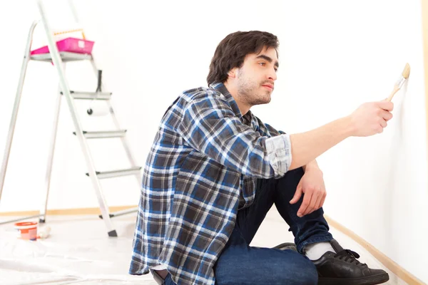
[[[0,222],[11,217],[0,217]],[[112,284],[155,285],[151,274],[131,276],[128,266],[132,251],[136,213],[115,217],[119,237],[108,238],[101,219],[94,216],[49,216],[51,234],[36,242],[17,238],[13,223],[0,225],[0,284],[62,285]],[[359,244],[332,228],[345,248],[361,255],[360,261],[389,273],[385,284],[407,284],[394,276]],[[274,247],[292,242],[285,222],[275,207],[267,214],[251,245]]]

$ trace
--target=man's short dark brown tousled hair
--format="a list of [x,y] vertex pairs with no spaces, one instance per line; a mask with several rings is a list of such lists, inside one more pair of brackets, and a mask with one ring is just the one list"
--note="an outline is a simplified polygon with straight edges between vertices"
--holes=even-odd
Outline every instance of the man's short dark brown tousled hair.
[[[230,33],[220,41],[210,64],[210,72],[207,76],[207,83],[221,82],[228,80],[230,69],[240,68],[244,63],[244,58],[249,53],[260,53],[263,48],[277,48],[279,46],[277,36],[265,31],[237,31]],[[277,51],[278,53],[278,51]]]

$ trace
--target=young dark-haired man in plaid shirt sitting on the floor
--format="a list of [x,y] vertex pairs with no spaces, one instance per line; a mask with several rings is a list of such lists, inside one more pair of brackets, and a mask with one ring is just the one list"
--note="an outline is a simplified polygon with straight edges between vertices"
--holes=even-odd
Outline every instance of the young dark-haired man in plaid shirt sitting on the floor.
[[[270,102],[277,47],[271,33],[231,33],[215,51],[209,87],[183,92],[166,110],[143,173],[131,274],[151,271],[158,284],[389,279],[333,239],[315,158],[350,136],[382,133],[393,105],[365,103],[306,133],[277,131],[250,112]],[[296,250],[249,246],[272,204]]]

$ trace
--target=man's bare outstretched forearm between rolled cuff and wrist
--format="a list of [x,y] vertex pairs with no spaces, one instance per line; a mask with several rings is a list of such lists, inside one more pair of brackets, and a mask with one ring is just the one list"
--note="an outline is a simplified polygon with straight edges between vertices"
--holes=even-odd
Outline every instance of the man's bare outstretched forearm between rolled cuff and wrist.
[[292,160],[289,170],[312,162],[337,143],[350,137],[352,132],[351,120],[345,117],[315,130],[290,135]]

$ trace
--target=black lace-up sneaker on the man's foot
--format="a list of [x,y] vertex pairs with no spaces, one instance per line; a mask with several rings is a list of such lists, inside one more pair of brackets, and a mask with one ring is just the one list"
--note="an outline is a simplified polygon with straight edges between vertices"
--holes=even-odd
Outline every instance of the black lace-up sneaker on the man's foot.
[[312,260],[318,271],[319,285],[374,285],[389,280],[389,275],[382,269],[371,269],[357,259],[360,255],[350,249],[343,249],[332,239],[335,252],[326,252],[320,259]]

